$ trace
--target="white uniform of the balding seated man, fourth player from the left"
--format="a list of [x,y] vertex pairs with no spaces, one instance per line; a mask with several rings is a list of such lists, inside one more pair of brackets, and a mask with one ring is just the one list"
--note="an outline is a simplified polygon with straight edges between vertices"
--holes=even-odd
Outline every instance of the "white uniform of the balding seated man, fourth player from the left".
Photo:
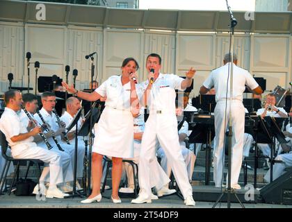
[[[73,121],[73,119],[74,118],[67,111],[65,111],[62,117],[60,117],[60,120],[66,124],[66,128],[70,126],[70,123]],[[80,118],[77,123],[77,127],[78,127],[77,130],[80,130],[81,126],[82,126],[82,119]],[[70,130],[70,133],[75,132],[75,130],[76,130],[76,125]],[[83,160],[84,160],[84,154],[85,154],[85,143],[84,143],[83,137],[78,136],[77,139],[78,139],[78,142],[77,142],[78,146],[77,146],[76,177],[81,178],[83,176]],[[72,147],[75,148],[75,137],[70,140],[70,144],[72,145]]]

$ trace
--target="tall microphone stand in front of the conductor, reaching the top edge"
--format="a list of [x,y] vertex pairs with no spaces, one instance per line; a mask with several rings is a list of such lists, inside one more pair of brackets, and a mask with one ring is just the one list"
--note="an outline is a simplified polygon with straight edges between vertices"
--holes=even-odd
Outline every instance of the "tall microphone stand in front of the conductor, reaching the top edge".
[[[241,200],[239,200],[238,196],[236,195],[234,189],[231,187],[231,174],[232,174],[232,92],[233,92],[233,67],[234,67],[234,28],[237,25],[237,21],[233,16],[232,10],[230,6],[227,3],[227,9],[230,15],[230,48],[229,48],[229,55],[231,56],[231,61],[229,62],[228,71],[230,74],[230,86],[229,86],[229,118],[228,118],[228,134],[227,134],[227,144],[228,144],[228,182],[227,182],[227,189],[224,189],[222,194],[219,196],[216,203],[213,205],[212,208],[215,208],[222,196],[224,194],[227,194],[227,208],[231,207],[231,194],[234,194],[236,199],[238,200],[238,203],[240,203],[242,208],[245,208],[243,204],[241,203]],[[224,160],[224,154],[223,154],[223,160]],[[224,176],[224,173],[222,174]]]

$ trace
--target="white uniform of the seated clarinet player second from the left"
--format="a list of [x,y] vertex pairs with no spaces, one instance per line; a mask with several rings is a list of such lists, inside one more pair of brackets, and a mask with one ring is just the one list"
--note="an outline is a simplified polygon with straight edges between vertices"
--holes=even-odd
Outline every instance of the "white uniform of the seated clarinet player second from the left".
[[[29,114],[31,115],[32,119],[35,119],[33,114],[31,114],[30,112],[29,112]],[[19,112],[19,118],[24,126],[29,126],[29,117],[27,117],[24,110],[21,110],[21,112]],[[41,125],[42,125],[41,123],[38,123],[38,126],[41,126]],[[47,149],[47,145],[44,142],[38,142],[36,144],[38,146],[40,146],[41,148]],[[58,149],[58,147],[56,146],[55,142],[49,142],[49,144],[51,144],[51,146],[53,147],[53,148],[51,148],[50,151],[54,151],[55,153],[58,153],[58,155],[60,155],[60,157],[61,157],[64,182],[72,181],[73,180],[73,170],[72,170],[71,156],[68,153],[60,151]],[[44,173],[44,171],[43,171],[43,173]],[[44,181],[49,182],[49,171],[47,171],[47,176],[44,178]]]

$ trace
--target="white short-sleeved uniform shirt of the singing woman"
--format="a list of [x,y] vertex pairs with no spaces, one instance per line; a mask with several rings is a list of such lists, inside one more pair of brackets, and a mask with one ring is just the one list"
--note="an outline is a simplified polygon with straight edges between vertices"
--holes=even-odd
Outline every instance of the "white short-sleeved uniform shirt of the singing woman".
[[[122,76],[111,76],[95,92],[106,96],[106,106],[118,110],[130,110],[131,83],[122,85]],[[140,87],[136,84],[137,94],[142,94]]]

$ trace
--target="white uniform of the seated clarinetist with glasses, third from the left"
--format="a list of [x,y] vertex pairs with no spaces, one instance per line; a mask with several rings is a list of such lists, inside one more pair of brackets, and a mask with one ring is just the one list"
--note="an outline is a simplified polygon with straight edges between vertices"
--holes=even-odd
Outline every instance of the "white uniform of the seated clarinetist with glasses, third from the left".
[[[57,121],[57,118],[56,118],[56,115],[54,114],[54,112],[51,112],[51,114],[49,114],[49,112],[47,112],[47,110],[44,110],[44,108],[42,108],[40,110],[40,114],[42,115],[42,117],[44,118],[44,121],[46,123],[49,124],[49,126],[51,126],[51,130],[54,130],[54,132],[56,132],[60,127],[58,126],[58,121]],[[33,117],[36,119],[36,121],[38,121],[38,123],[42,123],[42,120],[40,119],[38,113],[35,113],[33,115]],[[71,157],[71,165],[72,167],[74,166],[74,146],[72,146],[71,144],[67,144],[66,142],[64,142],[62,139],[61,139],[61,136],[58,135],[56,136],[56,139],[58,140],[58,143],[60,144],[60,146],[63,148],[64,152],[68,153]],[[55,146],[55,142],[54,142],[54,139],[52,137],[50,137],[48,139],[48,142],[49,144]],[[40,146],[46,146],[44,144],[44,142],[40,142]],[[70,169],[68,169],[70,170]],[[68,174],[69,175],[69,174]],[[72,181],[72,180],[69,180],[67,179],[66,177],[66,182],[67,181]]]

